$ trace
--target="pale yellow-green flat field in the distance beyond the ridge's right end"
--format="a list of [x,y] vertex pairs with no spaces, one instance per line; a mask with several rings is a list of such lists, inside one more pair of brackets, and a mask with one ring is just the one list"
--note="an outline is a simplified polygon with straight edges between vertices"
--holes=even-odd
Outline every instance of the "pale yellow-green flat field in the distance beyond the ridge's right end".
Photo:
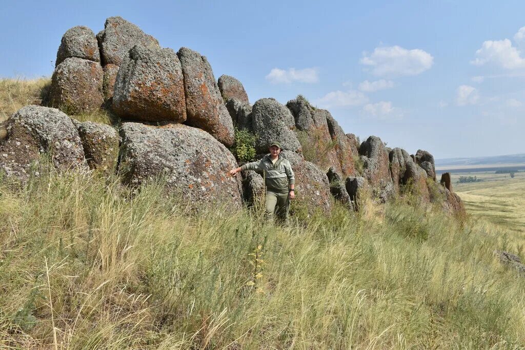
[[[465,201],[474,218],[525,234],[525,172],[515,173],[514,178],[493,171],[453,171],[451,174],[454,191]],[[481,181],[459,184],[459,176],[476,176]]]

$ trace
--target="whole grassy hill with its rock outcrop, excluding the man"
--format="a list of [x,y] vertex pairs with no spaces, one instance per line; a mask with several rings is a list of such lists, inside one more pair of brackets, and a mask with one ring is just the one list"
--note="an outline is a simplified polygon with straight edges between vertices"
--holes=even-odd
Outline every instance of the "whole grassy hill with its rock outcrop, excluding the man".
[[[522,241],[470,220],[434,157],[345,133],[302,96],[250,103],[120,17],[0,81],[7,348],[520,348]],[[298,199],[267,222],[277,139]]]

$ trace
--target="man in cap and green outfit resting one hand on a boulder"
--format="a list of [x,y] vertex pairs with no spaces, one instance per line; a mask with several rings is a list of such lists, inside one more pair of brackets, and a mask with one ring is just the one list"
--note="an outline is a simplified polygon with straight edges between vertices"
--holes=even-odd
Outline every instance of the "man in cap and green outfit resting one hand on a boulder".
[[280,154],[282,147],[279,142],[272,142],[269,151],[269,154],[258,161],[232,169],[230,175],[235,176],[238,172],[247,170],[263,173],[266,214],[270,218],[276,215],[279,221],[286,224],[290,200],[295,199],[295,175],[290,162]]

